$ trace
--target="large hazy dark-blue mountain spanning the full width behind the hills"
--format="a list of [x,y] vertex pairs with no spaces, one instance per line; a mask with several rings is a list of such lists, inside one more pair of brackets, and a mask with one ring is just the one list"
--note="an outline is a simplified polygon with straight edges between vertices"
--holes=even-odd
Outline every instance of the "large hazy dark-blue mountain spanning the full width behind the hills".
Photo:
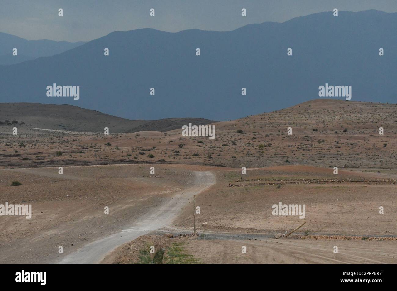
[[[397,13],[368,10],[227,32],[112,32],[63,53],[0,66],[0,101],[66,103],[134,120],[230,120],[317,99],[318,87],[328,83],[352,86],[352,101],[396,103],[396,31]],[[47,97],[54,83],[80,86],[79,100]]]

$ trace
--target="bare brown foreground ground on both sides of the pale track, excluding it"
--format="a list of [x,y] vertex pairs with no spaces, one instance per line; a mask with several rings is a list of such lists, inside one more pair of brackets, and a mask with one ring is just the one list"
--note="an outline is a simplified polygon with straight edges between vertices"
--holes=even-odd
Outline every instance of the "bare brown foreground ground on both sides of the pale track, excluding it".
[[[196,197],[200,207],[197,229],[203,237],[177,242],[182,243],[187,262],[191,258],[208,263],[397,262],[392,251],[397,233],[394,173],[339,170],[333,175],[331,168],[278,166],[248,169],[247,175],[241,175],[240,169],[224,167],[154,165],[154,178],[148,177],[150,166],[64,167],[63,175],[51,167],[0,170],[2,201],[26,201],[33,207],[32,219],[1,217],[0,230],[6,234],[0,240],[4,253],[1,262],[52,262],[59,257],[60,245],[67,254],[119,232],[137,216],[166,202],[176,190],[189,186],[192,170],[212,171],[217,183]],[[13,180],[22,185],[10,186]],[[298,184],[287,184],[291,181]],[[305,204],[305,218],[273,216],[272,205],[278,202]],[[110,207],[109,215],[104,215],[104,206]],[[380,206],[384,214],[379,214]],[[306,224],[290,238],[272,238],[303,221]],[[189,204],[170,229],[192,232],[192,226]],[[306,230],[309,236],[304,236]],[[240,234],[251,236],[251,240],[239,238]],[[263,237],[256,238],[258,234]],[[326,237],[316,236],[320,234]],[[230,238],[235,235],[237,238]],[[342,239],[330,240],[331,235],[384,240],[346,240],[340,236]],[[247,254],[241,254],[242,245],[247,246]],[[339,256],[332,253],[333,245],[341,246]],[[129,250],[121,253],[118,261],[113,254],[105,262],[135,262],[141,246]]]

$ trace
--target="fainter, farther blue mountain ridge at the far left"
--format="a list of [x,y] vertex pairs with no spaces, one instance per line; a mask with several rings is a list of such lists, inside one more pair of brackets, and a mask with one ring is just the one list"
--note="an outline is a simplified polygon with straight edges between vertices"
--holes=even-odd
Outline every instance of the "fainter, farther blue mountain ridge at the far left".
[[[81,46],[85,42],[56,42],[54,40],[25,40],[18,36],[0,32],[0,65],[13,65],[63,53],[68,49]],[[17,55],[12,50],[17,49]]]

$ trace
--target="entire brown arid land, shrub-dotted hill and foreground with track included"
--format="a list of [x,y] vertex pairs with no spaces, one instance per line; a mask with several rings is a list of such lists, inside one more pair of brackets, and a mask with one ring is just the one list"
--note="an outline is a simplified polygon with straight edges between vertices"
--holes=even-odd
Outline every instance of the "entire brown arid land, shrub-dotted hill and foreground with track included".
[[[396,110],[315,100],[218,122],[214,140],[0,125],[0,204],[33,209],[0,216],[0,262],[396,263]],[[193,232],[193,194],[199,236],[179,237]],[[272,215],[279,202],[305,217]]]

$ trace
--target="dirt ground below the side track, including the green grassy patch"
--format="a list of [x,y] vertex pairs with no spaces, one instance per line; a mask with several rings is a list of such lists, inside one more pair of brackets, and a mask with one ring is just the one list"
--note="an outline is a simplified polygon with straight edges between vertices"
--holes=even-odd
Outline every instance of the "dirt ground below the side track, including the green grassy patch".
[[[201,234],[203,235],[203,234]],[[160,234],[141,236],[110,253],[101,263],[137,264],[156,260],[150,247],[159,251],[161,263],[204,264],[395,264],[395,241],[298,240],[275,238],[168,238]],[[334,253],[335,246],[337,253]],[[246,253],[243,253],[245,247]],[[171,259],[170,259],[171,258]],[[176,258],[176,259],[175,259]]]

